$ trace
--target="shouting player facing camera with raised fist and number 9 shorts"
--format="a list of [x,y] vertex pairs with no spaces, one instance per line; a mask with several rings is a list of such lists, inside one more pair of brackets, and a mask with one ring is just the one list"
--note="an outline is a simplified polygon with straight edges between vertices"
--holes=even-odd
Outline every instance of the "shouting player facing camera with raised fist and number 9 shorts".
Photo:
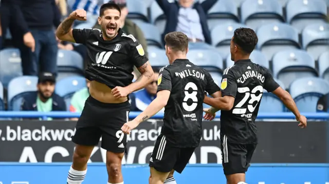
[[[101,30],[71,28],[75,20],[86,20],[84,10],[72,12],[57,29],[59,39],[84,44],[88,50],[85,73],[90,80],[90,96],[72,137],[77,146],[68,172],[69,184],[80,184],[84,180],[87,161],[100,137],[101,147],[107,150],[108,184],[123,184],[121,160],[126,135],[121,127],[129,118],[127,95],[151,83],[153,70],[138,40],[120,29],[120,16],[118,5],[108,3],[100,8],[98,23]],[[142,75],[132,83],[134,65]]]

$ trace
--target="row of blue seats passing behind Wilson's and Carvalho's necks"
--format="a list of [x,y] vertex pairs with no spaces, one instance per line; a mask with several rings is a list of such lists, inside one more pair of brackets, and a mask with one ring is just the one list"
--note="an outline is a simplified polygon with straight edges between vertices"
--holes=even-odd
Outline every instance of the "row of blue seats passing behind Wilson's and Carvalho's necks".
[[[148,51],[153,67],[168,65],[164,49],[149,48]],[[0,57],[2,58],[0,60],[0,81],[6,88],[12,78],[22,75],[20,53],[17,49],[5,49],[0,51]],[[221,80],[223,70],[234,64],[230,55],[223,58],[218,52],[211,49],[191,49],[188,52],[188,58],[195,65],[206,68],[219,80]],[[297,49],[276,53],[271,64],[266,56],[258,50],[254,50],[250,58],[252,62],[271,69],[273,76],[284,81],[286,87],[290,86],[291,81],[306,76],[319,76],[329,81],[329,50],[319,57],[318,67],[312,56]],[[83,75],[83,59],[75,51],[60,50],[58,68],[58,80],[66,76]]]

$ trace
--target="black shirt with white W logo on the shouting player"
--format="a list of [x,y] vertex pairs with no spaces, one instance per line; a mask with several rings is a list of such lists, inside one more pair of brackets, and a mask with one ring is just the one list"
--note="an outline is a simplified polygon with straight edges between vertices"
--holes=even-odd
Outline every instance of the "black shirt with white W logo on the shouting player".
[[73,29],[72,34],[76,43],[87,47],[85,77],[109,88],[130,85],[134,65],[138,68],[149,60],[138,40],[121,29],[112,40],[104,40],[99,29]]

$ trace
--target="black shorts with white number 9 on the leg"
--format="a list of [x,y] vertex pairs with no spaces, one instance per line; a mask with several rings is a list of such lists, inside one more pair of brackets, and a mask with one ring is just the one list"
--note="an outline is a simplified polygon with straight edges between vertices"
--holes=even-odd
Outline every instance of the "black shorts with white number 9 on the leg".
[[127,135],[121,127],[129,120],[129,101],[121,104],[102,103],[92,96],[85,102],[72,141],[82,146],[97,146],[114,153],[125,152]]

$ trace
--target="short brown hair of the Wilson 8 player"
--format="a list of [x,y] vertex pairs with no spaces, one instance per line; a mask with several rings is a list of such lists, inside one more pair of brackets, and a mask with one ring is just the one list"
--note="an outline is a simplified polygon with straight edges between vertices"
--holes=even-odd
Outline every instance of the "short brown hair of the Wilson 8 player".
[[166,34],[165,42],[167,47],[171,47],[176,51],[186,52],[189,46],[189,38],[186,34],[179,31]]

